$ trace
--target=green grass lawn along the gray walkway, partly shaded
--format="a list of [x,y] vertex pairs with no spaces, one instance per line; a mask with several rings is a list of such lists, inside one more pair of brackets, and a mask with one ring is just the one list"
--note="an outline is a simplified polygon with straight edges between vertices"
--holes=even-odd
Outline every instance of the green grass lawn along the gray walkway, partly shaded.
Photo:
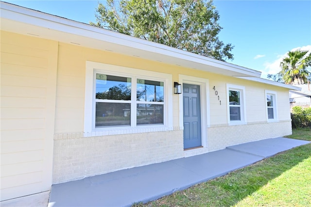
[[[311,129],[293,130],[311,141]],[[311,207],[311,144],[133,207]]]

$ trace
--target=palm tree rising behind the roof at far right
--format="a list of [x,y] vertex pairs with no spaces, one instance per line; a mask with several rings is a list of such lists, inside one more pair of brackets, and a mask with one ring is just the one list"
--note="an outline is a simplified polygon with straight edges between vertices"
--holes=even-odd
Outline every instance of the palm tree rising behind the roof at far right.
[[285,57],[280,63],[281,71],[278,75],[286,84],[304,84],[310,80],[311,72],[308,67],[311,66],[311,53],[309,51],[289,51],[288,57]]

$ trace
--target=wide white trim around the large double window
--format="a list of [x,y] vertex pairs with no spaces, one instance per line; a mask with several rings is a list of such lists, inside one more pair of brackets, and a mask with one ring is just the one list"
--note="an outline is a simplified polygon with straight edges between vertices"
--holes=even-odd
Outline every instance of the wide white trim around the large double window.
[[[159,80],[164,82],[164,124],[162,125],[141,125],[136,126],[134,110],[136,99],[131,102],[132,126],[127,127],[105,127],[95,128],[94,112],[94,71],[101,73],[109,73],[109,75],[129,76],[135,78],[151,80]],[[133,88],[136,88],[136,81],[132,81]],[[135,90],[134,90],[135,91]],[[145,71],[140,69],[128,68],[117,65],[109,65],[98,62],[86,61],[86,85],[85,85],[85,116],[84,116],[84,134],[85,136],[101,136],[124,133],[141,133],[141,132],[158,132],[173,130],[173,82],[172,75],[157,73],[152,71]],[[135,96],[136,97],[136,96]]]

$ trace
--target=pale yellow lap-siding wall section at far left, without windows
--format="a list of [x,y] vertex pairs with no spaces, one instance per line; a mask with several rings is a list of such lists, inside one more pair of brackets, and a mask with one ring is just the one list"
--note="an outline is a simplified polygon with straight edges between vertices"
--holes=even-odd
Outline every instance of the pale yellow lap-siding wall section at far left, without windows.
[[58,43],[1,31],[0,200],[50,190]]

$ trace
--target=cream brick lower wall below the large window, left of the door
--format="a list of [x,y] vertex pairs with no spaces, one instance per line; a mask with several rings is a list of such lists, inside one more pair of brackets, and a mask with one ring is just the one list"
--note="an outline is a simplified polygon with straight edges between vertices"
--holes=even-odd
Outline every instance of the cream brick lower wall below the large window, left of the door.
[[53,184],[183,157],[183,131],[55,134]]

